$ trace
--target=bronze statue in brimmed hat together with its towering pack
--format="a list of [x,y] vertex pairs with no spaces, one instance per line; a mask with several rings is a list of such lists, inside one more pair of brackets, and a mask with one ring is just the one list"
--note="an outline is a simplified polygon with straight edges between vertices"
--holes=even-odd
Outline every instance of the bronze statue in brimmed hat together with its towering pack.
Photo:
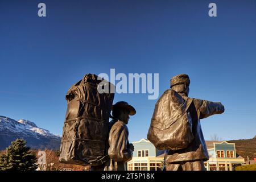
[[[108,90],[114,86],[88,73],[68,90],[59,160],[91,170],[127,170],[134,146],[129,143],[126,125],[136,111],[124,101],[113,105],[114,93],[98,92],[102,82]],[[113,120],[109,122],[111,110]]]

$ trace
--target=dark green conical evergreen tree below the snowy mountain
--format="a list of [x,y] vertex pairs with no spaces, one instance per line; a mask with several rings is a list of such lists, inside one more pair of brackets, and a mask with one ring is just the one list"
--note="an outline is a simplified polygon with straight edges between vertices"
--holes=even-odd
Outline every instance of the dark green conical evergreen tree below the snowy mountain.
[[6,154],[0,156],[0,170],[34,171],[38,168],[37,159],[29,150],[23,139],[11,142],[11,145],[6,148]]

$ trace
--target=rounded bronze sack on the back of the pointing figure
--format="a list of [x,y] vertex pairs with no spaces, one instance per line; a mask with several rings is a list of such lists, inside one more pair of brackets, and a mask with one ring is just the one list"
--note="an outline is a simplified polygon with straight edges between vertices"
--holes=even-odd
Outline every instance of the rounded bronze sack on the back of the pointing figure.
[[194,139],[189,106],[193,99],[184,100],[172,89],[166,90],[155,104],[147,139],[158,150],[180,150]]

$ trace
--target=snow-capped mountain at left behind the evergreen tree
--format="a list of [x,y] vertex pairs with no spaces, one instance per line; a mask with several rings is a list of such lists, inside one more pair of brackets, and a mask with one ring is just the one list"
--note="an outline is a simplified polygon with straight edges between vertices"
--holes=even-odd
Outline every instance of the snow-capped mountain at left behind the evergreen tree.
[[59,150],[61,137],[41,129],[34,122],[0,116],[0,150],[8,147],[17,138],[27,141],[31,148]]

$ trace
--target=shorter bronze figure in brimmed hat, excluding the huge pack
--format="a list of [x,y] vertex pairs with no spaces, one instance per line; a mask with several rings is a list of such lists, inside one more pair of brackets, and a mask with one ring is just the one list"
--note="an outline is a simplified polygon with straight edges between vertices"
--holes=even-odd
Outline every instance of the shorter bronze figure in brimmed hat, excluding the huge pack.
[[133,158],[134,146],[128,140],[127,123],[129,115],[136,113],[133,106],[127,102],[117,102],[112,107],[113,120],[109,125],[109,160],[105,171],[126,171],[127,162]]

